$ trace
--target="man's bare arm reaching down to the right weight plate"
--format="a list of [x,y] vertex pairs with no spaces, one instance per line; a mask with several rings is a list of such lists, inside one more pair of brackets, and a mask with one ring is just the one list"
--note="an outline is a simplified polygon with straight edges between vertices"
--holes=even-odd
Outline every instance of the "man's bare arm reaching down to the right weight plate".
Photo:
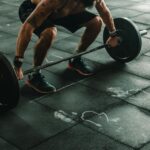
[[107,26],[109,32],[116,31],[112,15],[110,13],[110,10],[106,6],[104,0],[97,0],[96,9],[99,12],[103,22]]

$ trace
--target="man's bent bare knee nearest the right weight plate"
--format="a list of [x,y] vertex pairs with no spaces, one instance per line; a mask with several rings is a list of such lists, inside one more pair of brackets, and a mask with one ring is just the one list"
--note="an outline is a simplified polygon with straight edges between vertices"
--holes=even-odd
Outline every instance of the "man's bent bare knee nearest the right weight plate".
[[100,16],[95,16],[92,20],[90,20],[86,27],[93,30],[93,31],[97,31],[100,32],[101,27],[102,27],[102,19]]

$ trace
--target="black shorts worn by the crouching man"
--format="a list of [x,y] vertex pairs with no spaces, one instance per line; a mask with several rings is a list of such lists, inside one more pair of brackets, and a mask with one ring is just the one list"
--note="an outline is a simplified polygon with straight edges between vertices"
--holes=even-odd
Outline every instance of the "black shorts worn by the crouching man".
[[[31,0],[25,0],[19,7],[19,17],[22,22],[24,22],[31,12],[35,9],[36,5],[31,3]],[[55,25],[63,26],[72,33],[80,29],[83,24],[93,19],[96,15],[88,11],[83,11],[81,13],[69,15],[66,17],[52,19],[51,16],[44,21],[44,23],[38,27],[34,33],[40,36],[41,32],[48,27],[54,27]]]

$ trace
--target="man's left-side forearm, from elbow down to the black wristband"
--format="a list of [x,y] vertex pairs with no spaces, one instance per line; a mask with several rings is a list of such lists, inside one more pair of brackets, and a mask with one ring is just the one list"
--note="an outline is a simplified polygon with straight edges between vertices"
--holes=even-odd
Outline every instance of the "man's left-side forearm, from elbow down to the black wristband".
[[33,28],[30,24],[24,23],[17,38],[16,56],[23,57],[26,48],[31,40]]

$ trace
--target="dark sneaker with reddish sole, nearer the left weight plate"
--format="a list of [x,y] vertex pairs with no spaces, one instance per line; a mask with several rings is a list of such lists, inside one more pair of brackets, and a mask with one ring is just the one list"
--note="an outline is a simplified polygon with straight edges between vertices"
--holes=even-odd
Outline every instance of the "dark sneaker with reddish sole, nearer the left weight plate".
[[39,93],[56,92],[56,88],[48,83],[41,73],[34,73],[29,75],[26,84]]

